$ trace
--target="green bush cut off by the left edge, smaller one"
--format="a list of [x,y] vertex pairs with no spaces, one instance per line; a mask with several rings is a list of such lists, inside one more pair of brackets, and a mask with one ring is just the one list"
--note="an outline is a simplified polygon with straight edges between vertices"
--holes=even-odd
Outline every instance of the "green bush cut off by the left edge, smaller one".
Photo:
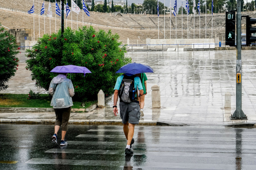
[[15,57],[18,45],[13,35],[0,27],[0,91],[6,90],[6,82],[15,75],[18,69],[18,58]]

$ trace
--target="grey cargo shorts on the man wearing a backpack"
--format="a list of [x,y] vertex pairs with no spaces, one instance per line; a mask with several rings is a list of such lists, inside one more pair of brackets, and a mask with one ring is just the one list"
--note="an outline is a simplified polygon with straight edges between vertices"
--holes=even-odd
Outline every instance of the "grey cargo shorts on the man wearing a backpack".
[[131,124],[139,124],[139,120],[140,120],[139,103],[120,102],[119,105],[120,105],[120,117],[122,119],[123,124],[127,123],[127,121]]

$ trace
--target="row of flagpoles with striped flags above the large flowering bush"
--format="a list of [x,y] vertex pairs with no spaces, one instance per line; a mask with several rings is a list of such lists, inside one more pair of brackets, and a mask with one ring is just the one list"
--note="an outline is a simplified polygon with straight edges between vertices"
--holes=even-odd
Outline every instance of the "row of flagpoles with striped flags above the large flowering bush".
[[[77,3],[77,0],[76,0],[76,3]],[[68,3],[67,3],[67,5],[64,5],[64,8],[66,9],[66,10],[64,10],[64,14],[66,14],[66,21],[67,21],[67,16],[70,14],[70,11],[71,11],[71,20],[72,20],[72,11],[76,12],[77,29],[78,29],[78,14],[81,11],[81,9],[79,8],[79,6],[76,5],[76,3],[73,0],[71,0],[71,10],[68,6]],[[38,6],[40,6],[39,0],[38,0]],[[84,0],[83,0],[82,10],[84,10],[84,12],[90,17],[90,13],[89,13],[86,5],[85,5]],[[45,14],[45,1],[43,2],[43,5],[41,7],[41,11],[40,11],[40,8],[38,8],[38,11],[39,11],[40,15]],[[33,28],[34,28],[34,41],[35,41],[35,5],[34,5],[34,0],[33,0],[33,6],[32,6],[32,8],[30,8],[28,13],[33,14],[33,23],[34,23]],[[40,15],[38,17],[38,20],[39,20],[39,38],[40,38]],[[58,3],[55,0],[55,33],[56,33],[56,30],[57,30],[56,15],[61,16],[61,10],[58,6]],[[49,33],[51,34],[52,5],[51,5],[50,2],[49,2],[49,6],[48,6],[48,11],[47,11],[47,17],[49,17],[49,23],[50,23],[50,32]],[[67,25],[67,22],[66,22],[66,25]],[[84,13],[83,13],[83,26],[84,26]],[[71,21],[71,28],[73,29],[73,21]],[[45,17],[44,17],[44,34],[45,34]]]

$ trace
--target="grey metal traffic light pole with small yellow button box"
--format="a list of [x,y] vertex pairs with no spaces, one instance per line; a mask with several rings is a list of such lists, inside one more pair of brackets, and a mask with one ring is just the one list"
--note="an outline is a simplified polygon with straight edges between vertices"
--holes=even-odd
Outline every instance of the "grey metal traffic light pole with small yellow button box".
[[242,111],[242,62],[241,62],[241,0],[237,0],[237,14],[236,14],[236,111],[230,117],[232,120],[247,119]]

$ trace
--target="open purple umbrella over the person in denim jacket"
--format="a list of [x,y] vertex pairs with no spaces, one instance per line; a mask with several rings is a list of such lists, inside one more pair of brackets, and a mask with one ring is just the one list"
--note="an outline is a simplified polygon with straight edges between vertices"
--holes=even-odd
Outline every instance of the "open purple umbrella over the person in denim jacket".
[[57,66],[52,69],[54,73],[92,73],[88,68],[86,67],[81,67],[81,66],[76,66],[76,65],[62,65],[62,66]]

